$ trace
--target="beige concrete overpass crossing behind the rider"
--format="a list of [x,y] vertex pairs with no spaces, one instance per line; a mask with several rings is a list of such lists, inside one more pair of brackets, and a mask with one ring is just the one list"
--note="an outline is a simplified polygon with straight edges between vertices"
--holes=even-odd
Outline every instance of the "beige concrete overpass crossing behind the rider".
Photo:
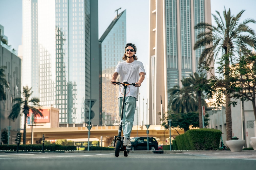
[[[32,130],[32,133],[31,133]],[[23,130],[21,130],[23,133]],[[176,137],[183,134],[183,129],[171,129],[171,136]],[[27,128],[26,129],[26,144],[41,143],[42,135],[45,135],[45,140],[54,139],[85,139],[88,141],[88,128],[87,127],[55,127],[55,128]],[[93,126],[90,129],[90,139],[97,138],[103,147],[111,145],[111,142],[118,134],[118,126]],[[133,126],[131,138],[136,136],[147,136],[146,126]],[[160,139],[160,143],[165,144],[166,138],[169,138],[169,129],[165,130],[161,125],[151,125],[148,128],[148,136]],[[92,140],[90,140],[92,141]]]

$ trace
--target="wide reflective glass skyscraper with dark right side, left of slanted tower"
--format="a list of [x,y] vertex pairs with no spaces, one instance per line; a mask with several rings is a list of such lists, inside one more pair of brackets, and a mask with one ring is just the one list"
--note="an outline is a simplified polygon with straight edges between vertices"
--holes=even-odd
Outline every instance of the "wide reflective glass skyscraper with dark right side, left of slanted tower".
[[100,124],[98,56],[98,1],[23,0],[23,86],[60,126],[85,126],[86,99]]

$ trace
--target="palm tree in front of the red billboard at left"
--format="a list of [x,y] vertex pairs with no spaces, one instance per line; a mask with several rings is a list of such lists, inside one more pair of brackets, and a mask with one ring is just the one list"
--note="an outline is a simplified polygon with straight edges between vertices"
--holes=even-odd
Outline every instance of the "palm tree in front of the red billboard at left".
[[[32,88],[32,87],[31,87]],[[33,91],[30,91],[31,88],[28,88],[28,86],[23,87],[23,98],[15,98],[14,102],[16,102],[13,105],[12,111],[10,115],[8,116],[9,119],[15,120],[18,115],[24,114],[24,132],[23,132],[23,144],[26,144],[26,123],[27,123],[27,117],[29,116],[29,110],[31,110],[34,117],[42,116],[42,109],[39,105],[39,99],[36,97],[33,97],[30,99]],[[32,105],[30,105],[32,104]],[[22,112],[20,112],[22,110]],[[32,120],[34,121],[34,120]]]

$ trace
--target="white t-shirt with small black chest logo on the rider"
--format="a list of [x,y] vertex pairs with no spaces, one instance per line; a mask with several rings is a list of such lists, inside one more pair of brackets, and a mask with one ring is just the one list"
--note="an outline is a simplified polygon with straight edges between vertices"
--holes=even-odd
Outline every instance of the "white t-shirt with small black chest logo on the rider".
[[[127,63],[126,61],[123,61],[117,64],[115,68],[115,72],[117,72],[120,75],[119,80],[121,83],[123,82],[136,83],[140,79],[141,72],[144,72],[146,74],[142,62],[137,60],[134,60],[132,63]],[[135,97],[136,100],[138,100],[139,87],[135,87],[132,85],[130,85],[129,87],[126,88],[126,97],[132,96],[132,97]],[[123,97],[123,93],[124,93],[124,87],[120,85],[118,98]]]

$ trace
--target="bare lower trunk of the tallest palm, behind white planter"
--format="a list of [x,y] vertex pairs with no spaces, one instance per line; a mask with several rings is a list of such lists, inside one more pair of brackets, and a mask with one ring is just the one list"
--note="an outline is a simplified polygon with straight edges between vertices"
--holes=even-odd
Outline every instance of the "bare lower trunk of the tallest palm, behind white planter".
[[227,140],[232,140],[232,118],[231,118],[231,105],[230,95],[226,94],[226,133]]

